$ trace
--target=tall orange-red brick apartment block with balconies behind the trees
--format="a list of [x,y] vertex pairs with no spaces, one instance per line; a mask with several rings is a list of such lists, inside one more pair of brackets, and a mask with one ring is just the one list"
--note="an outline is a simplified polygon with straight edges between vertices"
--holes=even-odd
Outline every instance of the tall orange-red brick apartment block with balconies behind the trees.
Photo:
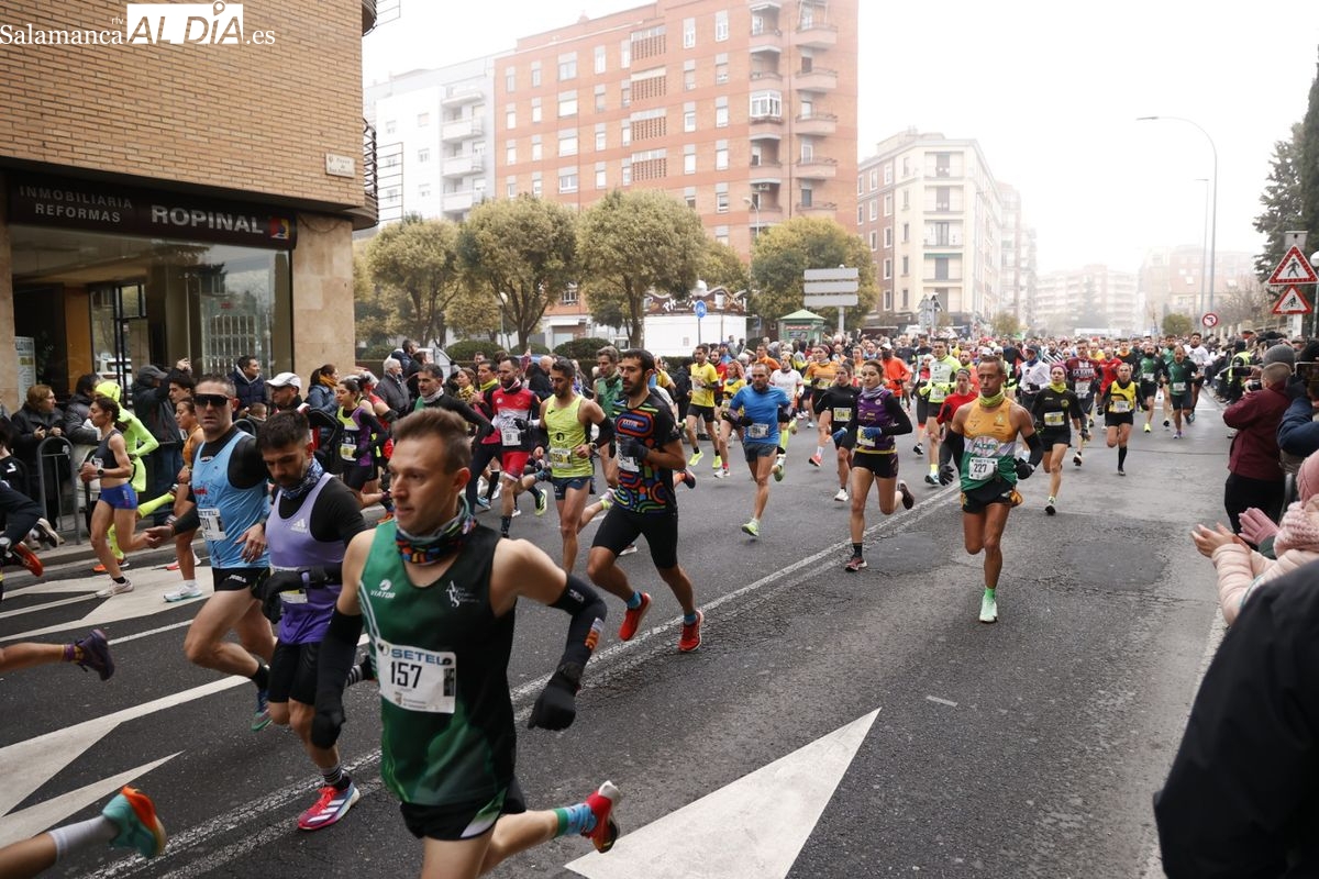
[[748,254],[793,216],[851,225],[857,0],[657,0],[496,58],[497,195],[662,188]]

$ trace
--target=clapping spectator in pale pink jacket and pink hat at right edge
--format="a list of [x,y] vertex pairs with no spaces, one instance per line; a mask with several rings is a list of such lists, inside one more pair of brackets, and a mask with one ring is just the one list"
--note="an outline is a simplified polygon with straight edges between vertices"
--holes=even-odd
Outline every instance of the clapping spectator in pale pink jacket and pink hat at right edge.
[[1257,544],[1272,536],[1275,559],[1250,550],[1221,523],[1216,528],[1198,525],[1191,531],[1195,548],[1212,559],[1217,571],[1219,605],[1229,626],[1257,586],[1319,560],[1319,452],[1301,464],[1297,492],[1301,499],[1287,507],[1278,527],[1258,510],[1241,514],[1242,534]]

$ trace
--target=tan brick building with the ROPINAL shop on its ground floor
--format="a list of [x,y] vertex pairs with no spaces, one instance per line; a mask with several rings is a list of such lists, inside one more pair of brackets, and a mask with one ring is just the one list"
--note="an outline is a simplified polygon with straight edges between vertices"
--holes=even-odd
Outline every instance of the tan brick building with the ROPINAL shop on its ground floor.
[[353,356],[351,235],[376,221],[361,116],[376,1],[215,4],[206,45],[169,7],[138,12],[4,5],[13,33],[44,34],[0,53],[11,410],[38,382],[63,399],[88,372],[127,387],[181,357],[306,376]]

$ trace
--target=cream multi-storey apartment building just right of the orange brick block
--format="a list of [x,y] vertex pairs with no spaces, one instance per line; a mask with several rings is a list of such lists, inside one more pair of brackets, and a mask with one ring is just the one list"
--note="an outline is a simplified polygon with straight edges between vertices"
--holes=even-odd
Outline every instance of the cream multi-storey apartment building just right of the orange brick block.
[[907,129],[857,170],[856,228],[874,254],[878,320],[917,323],[919,303],[936,297],[948,326],[988,326],[1004,304],[1004,208],[980,145]]

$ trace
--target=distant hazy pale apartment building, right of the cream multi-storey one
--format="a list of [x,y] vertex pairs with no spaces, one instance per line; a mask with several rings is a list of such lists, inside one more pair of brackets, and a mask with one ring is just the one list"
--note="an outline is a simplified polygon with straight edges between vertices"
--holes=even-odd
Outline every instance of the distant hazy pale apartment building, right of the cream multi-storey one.
[[1154,326],[1137,275],[1087,265],[1039,275],[1034,329],[1068,336],[1079,329],[1111,336],[1144,335]]

